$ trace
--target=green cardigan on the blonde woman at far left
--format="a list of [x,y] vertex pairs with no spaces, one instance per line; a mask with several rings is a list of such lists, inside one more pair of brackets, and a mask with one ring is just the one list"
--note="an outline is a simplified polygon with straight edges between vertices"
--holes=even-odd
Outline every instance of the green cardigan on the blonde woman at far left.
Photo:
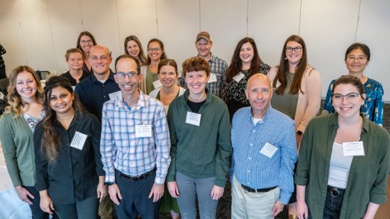
[[0,141],[13,186],[35,186],[33,132],[22,115],[1,115]]

